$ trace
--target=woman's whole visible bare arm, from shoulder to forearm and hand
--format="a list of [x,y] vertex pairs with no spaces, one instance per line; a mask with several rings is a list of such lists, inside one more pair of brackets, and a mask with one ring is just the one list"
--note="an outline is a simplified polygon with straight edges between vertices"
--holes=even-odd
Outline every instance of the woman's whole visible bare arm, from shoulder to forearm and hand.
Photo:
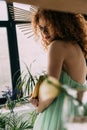
[[[61,43],[58,43],[58,41],[54,41],[49,48],[47,75],[53,77],[57,81],[60,78],[60,73],[62,70],[64,58],[65,58],[64,53],[65,53],[64,47],[61,45]],[[46,87],[49,87],[49,85]],[[51,87],[50,89],[51,91],[53,91]],[[42,112],[43,110],[45,110],[55,99],[54,97],[51,96],[50,98],[48,98],[48,100],[43,101],[43,99],[41,99],[41,95],[43,94],[44,93],[40,93],[39,105],[37,107],[38,112]]]

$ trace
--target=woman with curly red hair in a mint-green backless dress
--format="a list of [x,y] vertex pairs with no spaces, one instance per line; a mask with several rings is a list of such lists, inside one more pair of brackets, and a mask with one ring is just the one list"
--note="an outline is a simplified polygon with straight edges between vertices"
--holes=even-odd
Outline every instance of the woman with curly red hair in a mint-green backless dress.
[[[81,14],[39,8],[32,23],[34,32],[40,34],[43,46],[48,49],[47,75],[83,91],[87,57],[87,25],[84,17]],[[51,104],[47,102],[47,108],[39,100],[31,97],[32,104],[40,112],[34,130],[62,130],[64,93],[58,95]]]

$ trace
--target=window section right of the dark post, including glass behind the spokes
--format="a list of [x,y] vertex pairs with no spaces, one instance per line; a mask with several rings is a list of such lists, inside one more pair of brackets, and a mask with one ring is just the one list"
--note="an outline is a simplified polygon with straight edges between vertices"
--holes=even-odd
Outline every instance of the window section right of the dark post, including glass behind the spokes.
[[[29,19],[30,5],[14,3],[14,7],[16,7],[15,17],[17,16],[18,18],[19,16],[20,20],[24,19],[31,22],[31,19]],[[17,13],[17,11],[19,12]],[[32,74],[41,73],[46,69],[46,52],[39,43],[41,41],[35,40],[33,31],[29,26],[30,23],[16,25],[21,71],[24,72],[26,70],[26,64],[29,69],[31,65]],[[30,37],[30,35],[32,35],[32,37]]]

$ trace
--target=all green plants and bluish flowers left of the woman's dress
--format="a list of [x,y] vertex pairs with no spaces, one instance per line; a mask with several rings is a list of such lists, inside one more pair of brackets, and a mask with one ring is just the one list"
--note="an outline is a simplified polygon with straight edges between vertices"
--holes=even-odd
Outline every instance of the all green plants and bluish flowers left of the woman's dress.
[[[38,115],[35,110],[32,110],[32,112],[27,111],[27,113],[25,111],[24,114],[21,111],[15,112],[15,107],[29,104],[30,94],[39,80],[40,75],[33,76],[27,65],[26,69],[27,73],[25,75],[22,73],[18,78],[15,90],[12,91],[7,87],[7,91],[3,91],[2,96],[7,101],[5,104],[0,105],[0,108],[8,109],[9,112],[0,113],[0,130],[30,130],[33,128]],[[15,95],[17,96],[16,99],[14,99]]]

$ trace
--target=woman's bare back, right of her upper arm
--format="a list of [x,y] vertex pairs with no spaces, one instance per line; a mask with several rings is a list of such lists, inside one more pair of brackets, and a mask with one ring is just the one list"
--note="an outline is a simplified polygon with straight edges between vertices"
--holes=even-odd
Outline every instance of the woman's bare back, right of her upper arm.
[[64,63],[66,72],[79,83],[86,79],[86,61],[78,44],[66,44],[66,60]]

